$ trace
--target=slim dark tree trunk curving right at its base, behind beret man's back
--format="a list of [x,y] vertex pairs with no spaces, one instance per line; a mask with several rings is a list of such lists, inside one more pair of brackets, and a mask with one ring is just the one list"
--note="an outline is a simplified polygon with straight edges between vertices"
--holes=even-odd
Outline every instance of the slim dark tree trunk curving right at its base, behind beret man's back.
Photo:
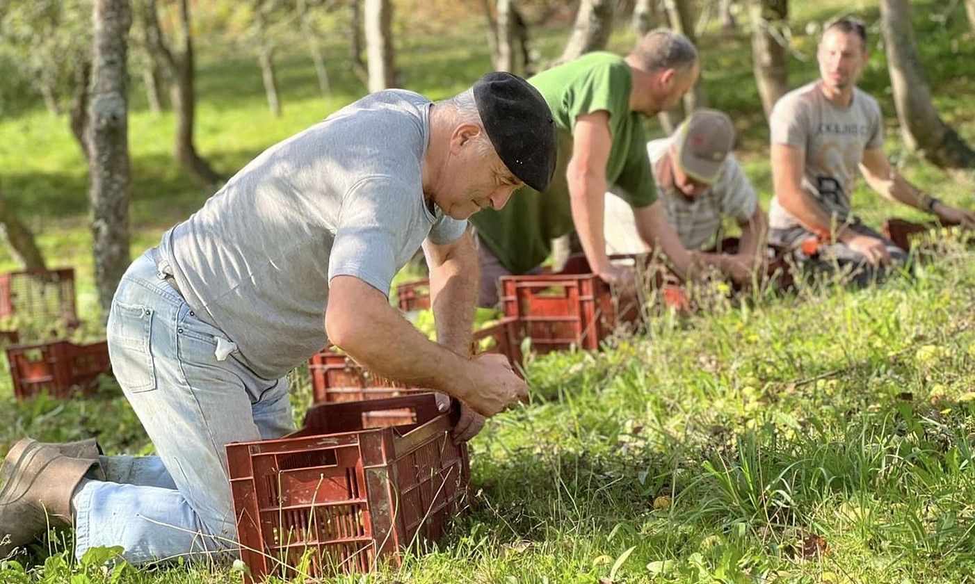
[[176,113],[176,160],[183,170],[201,185],[213,187],[221,181],[196,151],[193,144],[193,124],[196,116],[196,91],[194,89],[195,66],[193,61],[193,34],[190,29],[190,13],[187,0],[179,0],[179,45],[182,55],[174,59],[173,110]]

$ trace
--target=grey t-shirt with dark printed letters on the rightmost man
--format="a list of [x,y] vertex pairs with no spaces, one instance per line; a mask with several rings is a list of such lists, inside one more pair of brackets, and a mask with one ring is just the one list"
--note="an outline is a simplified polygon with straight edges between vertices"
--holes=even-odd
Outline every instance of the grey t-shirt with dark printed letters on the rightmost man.
[[[775,103],[769,121],[773,144],[788,144],[805,151],[802,189],[812,195],[838,223],[851,220],[850,193],[864,150],[883,145],[883,119],[877,99],[859,88],[849,107],[827,99],[815,81]],[[789,229],[799,221],[772,199],[772,229]]]

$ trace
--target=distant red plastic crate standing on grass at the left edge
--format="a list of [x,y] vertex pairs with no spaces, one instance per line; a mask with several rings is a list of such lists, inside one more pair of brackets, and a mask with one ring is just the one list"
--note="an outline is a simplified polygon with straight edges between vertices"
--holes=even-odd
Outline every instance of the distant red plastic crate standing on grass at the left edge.
[[0,274],[0,318],[14,316],[76,325],[74,270]]

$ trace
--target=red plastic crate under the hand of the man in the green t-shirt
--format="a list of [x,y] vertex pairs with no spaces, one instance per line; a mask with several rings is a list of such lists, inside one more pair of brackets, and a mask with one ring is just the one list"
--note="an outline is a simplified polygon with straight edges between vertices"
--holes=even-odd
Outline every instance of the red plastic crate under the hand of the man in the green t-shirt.
[[[616,261],[638,263],[644,255],[612,255]],[[567,349],[599,349],[600,341],[618,324],[638,323],[642,318],[639,297],[614,296],[603,280],[591,273],[582,254],[565,262],[563,271],[542,276],[502,276],[501,308],[515,319],[516,338],[531,338],[538,353]]]

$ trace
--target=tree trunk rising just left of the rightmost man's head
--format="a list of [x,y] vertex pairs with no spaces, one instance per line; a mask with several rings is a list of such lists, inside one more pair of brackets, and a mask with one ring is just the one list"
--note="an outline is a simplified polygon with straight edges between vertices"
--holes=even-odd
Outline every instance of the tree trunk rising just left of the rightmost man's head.
[[751,0],[752,63],[761,109],[767,119],[779,97],[789,91],[788,0]]

